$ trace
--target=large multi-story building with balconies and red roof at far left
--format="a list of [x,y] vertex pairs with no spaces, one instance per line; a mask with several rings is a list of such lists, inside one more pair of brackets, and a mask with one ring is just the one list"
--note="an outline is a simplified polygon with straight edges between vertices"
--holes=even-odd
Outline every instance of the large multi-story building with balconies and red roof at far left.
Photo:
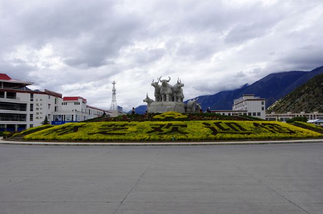
[[45,116],[61,110],[62,94],[45,89],[30,90],[32,82],[0,74],[0,130],[20,131],[40,126]]

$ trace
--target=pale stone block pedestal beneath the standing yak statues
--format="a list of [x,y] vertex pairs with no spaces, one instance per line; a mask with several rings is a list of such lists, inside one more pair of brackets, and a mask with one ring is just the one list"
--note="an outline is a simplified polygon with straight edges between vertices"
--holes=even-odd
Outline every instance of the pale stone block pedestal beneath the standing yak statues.
[[148,113],[164,113],[164,112],[186,112],[186,104],[183,102],[152,102],[148,109]]

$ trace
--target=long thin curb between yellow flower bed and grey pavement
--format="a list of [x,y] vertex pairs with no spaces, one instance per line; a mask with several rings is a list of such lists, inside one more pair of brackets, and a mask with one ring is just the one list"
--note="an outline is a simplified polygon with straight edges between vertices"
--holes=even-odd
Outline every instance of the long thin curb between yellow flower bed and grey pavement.
[[2,145],[41,146],[210,146],[210,145],[268,145],[295,143],[323,143],[323,139],[261,140],[261,141],[217,141],[217,142],[31,142],[1,140]]

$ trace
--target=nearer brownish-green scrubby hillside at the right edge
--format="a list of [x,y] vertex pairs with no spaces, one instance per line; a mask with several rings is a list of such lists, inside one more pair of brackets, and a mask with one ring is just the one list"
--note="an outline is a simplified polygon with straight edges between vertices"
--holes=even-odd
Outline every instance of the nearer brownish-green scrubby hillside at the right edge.
[[319,74],[304,85],[279,99],[268,108],[275,113],[323,112],[323,74]]

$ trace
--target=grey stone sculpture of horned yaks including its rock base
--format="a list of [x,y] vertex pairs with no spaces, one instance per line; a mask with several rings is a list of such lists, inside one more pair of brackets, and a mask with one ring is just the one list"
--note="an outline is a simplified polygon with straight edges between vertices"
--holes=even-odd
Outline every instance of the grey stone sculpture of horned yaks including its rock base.
[[[169,84],[171,78],[161,79],[157,78],[157,82],[152,80],[151,86],[154,87],[155,100],[149,98],[148,93],[146,98],[143,99],[147,102],[147,111],[150,113],[164,113],[164,112],[179,112],[179,113],[195,113],[200,112],[201,106],[196,102],[196,99],[188,100],[187,104],[183,103],[184,84],[178,78],[177,83],[174,85]],[[159,85],[160,82],[160,85]]]

